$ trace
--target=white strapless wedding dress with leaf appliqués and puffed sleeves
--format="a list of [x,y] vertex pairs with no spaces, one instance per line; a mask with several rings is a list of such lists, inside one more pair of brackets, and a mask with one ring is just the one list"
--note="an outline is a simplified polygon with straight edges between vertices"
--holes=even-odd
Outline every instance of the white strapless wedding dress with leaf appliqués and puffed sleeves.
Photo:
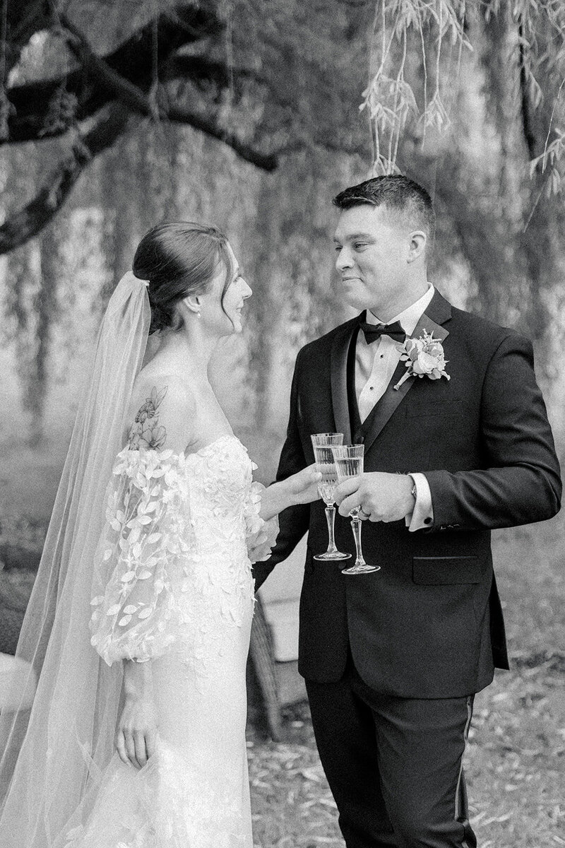
[[108,664],[152,662],[158,745],[114,755],[67,848],[252,848],[246,656],[253,560],[276,520],[235,436],[188,456],[126,448],[108,488],[91,643]]

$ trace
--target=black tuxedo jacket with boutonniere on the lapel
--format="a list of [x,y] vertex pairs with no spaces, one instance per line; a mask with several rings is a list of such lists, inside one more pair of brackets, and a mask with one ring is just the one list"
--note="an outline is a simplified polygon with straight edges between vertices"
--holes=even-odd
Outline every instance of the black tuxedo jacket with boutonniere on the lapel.
[[[254,572],[258,587],[308,532],[302,675],[340,679],[349,646],[377,692],[446,698],[477,692],[495,666],[508,667],[490,529],[555,515],[561,480],[529,341],[437,292],[413,337],[424,329],[442,340],[451,380],[410,377],[395,390],[401,362],[363,441],[365,471],[424,472],[433,523],[410,533],[404,521],[363,522],[365,559],[381,570],[348,577],[335,563],[313,561],[328,542],[323,502],[294,506],[280,516],[269,561]],[[311,433],[343,432],[344,444],[352,442],[347,354],[356,336],[354,319],[298,354],[278,479],[313,462]],[[338,547],[353,552],[349,520],[338,515],[335,523]]]

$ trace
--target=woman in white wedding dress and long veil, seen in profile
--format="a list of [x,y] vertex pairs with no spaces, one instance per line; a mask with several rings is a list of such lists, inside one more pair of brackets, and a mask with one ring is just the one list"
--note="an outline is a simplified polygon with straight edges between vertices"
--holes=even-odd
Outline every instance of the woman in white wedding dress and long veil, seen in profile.
[[252,848],[250,561],[319,475],[253,483],[208,382],[251,294],[218,230],[166,223],[110,299],[19,640],[36,698],[0,717],[4,848]]

